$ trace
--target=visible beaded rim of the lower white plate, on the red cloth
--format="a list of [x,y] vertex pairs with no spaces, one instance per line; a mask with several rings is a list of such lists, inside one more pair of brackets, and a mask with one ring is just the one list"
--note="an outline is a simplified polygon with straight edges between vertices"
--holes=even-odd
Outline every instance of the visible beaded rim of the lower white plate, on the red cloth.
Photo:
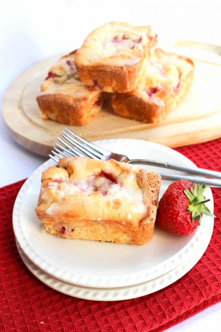
[[62,282],[58,279],[55,279],[48,274],[40,270],[36,265],[32,264],[31,261],[27,258],[24,252],[17,244],[19,254],[29,269],[29,271],[42,283],[49,286],[50,288],[57,290],[61,293],[83,298],[86,300],[94,301],[119,301],[127,300],[139,296],[144,296],[151,294],[154,291],[161,290],[164,287],[171,285],[182,276],[184,276],[192,267],[198,262],[205,252],[210,238],[212,235],[212,228],[204,237],[204,241],[198,241],[198,244],[193,248],[190,248],[191,254],[185,262],[174,268],[173,270],[165,273],[164,275],[146,281],[141,284],[131,285],[126,287],[117,287],[117,288],[90,288],[82,287],[77,285],[68,284]]

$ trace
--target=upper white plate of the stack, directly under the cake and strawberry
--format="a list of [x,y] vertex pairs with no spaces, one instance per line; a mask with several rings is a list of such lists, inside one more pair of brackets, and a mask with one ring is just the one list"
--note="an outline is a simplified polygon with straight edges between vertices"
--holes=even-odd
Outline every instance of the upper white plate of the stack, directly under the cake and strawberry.
[[[148,141],[111,139],[98,144],[133,159],[148,158],[194,166],[180,153]],[[203,217],[201,226],[188,236],[176,236],[156,227],[153,239],[143,246],[64,239],[43,233],[42,222],[38,220],[34,207],[37,206],[41,172],[53,164],[52,160],[46,161],[21,188],[13,210],[13,228],[28,259],[56,279],[98,288],[143,283],[186,261],[198,242],[203,243],[207,234],[212,233],[213,218],[208,216]],[[165,169],[158,170],[165,173]],[[172,170],[166,172],[176,173]],[[162,181],[160,196],[169,183]],[[205,194],[211,199],[208,207],[213,211],[211,190],[207,188]]]

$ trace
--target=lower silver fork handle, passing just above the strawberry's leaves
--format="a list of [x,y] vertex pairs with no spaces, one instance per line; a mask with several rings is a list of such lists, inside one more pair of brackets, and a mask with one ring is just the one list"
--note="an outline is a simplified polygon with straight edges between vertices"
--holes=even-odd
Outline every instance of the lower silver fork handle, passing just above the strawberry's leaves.
[[163,174],[159,173],[162,180],[188,180],[190,182],[198,182],[201,184],[205,184],[209,187],[221,187],[221,180],[217,179],[209,179],[209,178],[203,178],[199,176],[189,176],[189,175],[181,175],[181,174]]

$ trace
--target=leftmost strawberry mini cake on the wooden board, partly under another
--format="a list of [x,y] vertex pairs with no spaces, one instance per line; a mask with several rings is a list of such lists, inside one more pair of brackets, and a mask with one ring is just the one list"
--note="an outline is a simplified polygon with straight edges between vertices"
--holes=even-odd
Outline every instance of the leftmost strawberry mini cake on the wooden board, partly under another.
[[50,68],[41,84],[37,103],[41,118],[64,124],[87,124],[101,109],[107,94],[96,87],[87,87],[78,77],[76,51],[63,56]]

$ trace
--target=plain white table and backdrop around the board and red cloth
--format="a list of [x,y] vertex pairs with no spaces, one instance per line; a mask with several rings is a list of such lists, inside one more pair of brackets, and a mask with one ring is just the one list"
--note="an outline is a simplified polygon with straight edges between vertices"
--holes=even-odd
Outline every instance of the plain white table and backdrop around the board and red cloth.
[[[0,2],[0,100],[25,69],[47,57],[79,47],[95,27],[110,21],[152,25],[161,38],[221,44],[217,0],[9,0]],[[47,158],[18,145],[0,117],[0,187],[28,177]],[[3,157],[4,156],[4,157]],[[218,303],[168,331],[221,330]]]

